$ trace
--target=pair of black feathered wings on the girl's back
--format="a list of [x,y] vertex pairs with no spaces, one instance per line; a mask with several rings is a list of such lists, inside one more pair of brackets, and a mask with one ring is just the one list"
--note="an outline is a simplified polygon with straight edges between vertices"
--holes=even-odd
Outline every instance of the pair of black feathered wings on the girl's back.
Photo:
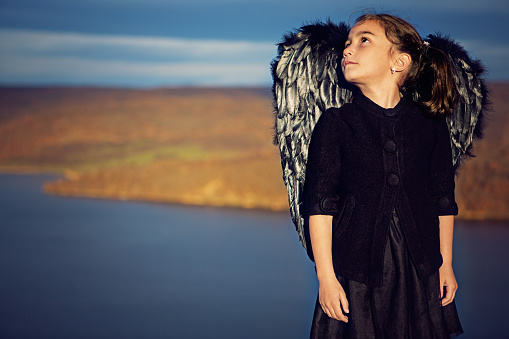
[[[302,210],[308,146],[321,114],[330,107],[340,107],[352,96],[339,68],[348,30],[344,23],[304,26],[284,37],[272,62],[274,141],[281,152],[292,220],[308,254],[311,253]],[[458,168],[462,159],[473,156],[473,140],[482,137],[489,108],[488,91],[482,79],[484,68],[448,37],[429,35],[426,41],[445,52],[453,66],[460,99],[447,122],[453,165]],[[419,97],[422,96],[415,93],[414,98]]]

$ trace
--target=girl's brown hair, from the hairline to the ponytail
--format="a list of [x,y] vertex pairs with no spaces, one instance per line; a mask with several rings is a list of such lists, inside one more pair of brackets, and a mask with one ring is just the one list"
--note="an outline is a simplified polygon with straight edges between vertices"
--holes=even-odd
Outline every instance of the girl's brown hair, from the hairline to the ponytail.
[[451,112],[456,106],[458,91],[449,57],[423,43],[417,30],[401,18],[390,14],[364,14],[355,22],[364,21],[378,22],[395,48],[412,58],[402,89],[417,90],[419,102],[432,115]]

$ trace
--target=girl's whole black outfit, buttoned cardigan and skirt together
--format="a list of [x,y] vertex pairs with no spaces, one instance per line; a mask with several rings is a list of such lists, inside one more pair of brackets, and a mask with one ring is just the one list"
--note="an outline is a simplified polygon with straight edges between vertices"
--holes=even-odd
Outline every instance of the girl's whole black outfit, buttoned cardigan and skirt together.
[[445,339],[461,334],[442,307],[439,216],[456,215],[444,117],[411,98],[385,109],[362,93],[317,122],[309,147],[306,215],[332,215],[334,271],[349,322],[317,302],[311,338]]

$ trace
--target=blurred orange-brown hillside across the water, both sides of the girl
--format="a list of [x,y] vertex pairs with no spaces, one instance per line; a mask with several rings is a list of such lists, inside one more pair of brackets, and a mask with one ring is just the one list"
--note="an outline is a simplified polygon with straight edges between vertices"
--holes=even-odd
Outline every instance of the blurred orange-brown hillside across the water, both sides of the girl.
[[[509,84],[458,177],[460,217],[509,219]],[[268,89],[0,88],[0,170],[64,196],[286,210]]]

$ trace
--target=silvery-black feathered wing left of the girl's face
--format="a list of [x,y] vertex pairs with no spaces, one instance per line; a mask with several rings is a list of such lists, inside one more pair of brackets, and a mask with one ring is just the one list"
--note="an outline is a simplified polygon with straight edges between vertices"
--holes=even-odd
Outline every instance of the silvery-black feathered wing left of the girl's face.
[[343,23],[304,26],[284,37],[272,62],[274,142],[281,152],[292,220],[308,254],[302,210],[308,146],[320,115],[352,96],[340,68],[347,36]]

